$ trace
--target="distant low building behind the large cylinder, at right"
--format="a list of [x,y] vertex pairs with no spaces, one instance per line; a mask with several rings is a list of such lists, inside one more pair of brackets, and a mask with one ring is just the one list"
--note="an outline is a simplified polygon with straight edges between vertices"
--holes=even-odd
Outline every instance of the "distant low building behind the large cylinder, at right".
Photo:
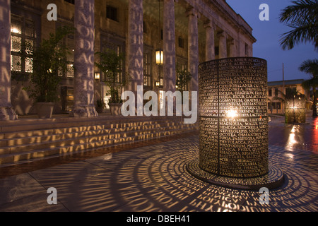
[[[306,109],[312,109],[310,92],[302,88],[304,79],[272,81],[268,83],[268,113],[284,114],[285,95],[304,95],[306,100]],[[278,97],[278,98],[277,98]]]

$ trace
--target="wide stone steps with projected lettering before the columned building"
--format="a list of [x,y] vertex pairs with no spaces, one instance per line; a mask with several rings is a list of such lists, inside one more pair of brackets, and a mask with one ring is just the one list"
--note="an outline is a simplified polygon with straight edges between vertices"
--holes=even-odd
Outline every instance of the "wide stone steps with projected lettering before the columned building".
[[182,117],[18,119],[0,126],[0,165],[196,131]]

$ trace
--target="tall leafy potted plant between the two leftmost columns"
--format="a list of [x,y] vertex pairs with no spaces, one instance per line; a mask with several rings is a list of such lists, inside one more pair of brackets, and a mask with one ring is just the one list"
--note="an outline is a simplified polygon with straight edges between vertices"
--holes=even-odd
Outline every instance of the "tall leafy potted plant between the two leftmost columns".
[[50,118],[54,102],[59,100],[58,85],[61,81],[59,73],[67,71],[67,55],[69,54],[64,37],[73,32],[73,28],[60,27],[56,33],[50,33],[49,39],[42,40],[40,46],[33,49],[28,42],[28,59],[33,61],[33,72],[30,84],[23,88],[35,100],[35,107],[39,118]]

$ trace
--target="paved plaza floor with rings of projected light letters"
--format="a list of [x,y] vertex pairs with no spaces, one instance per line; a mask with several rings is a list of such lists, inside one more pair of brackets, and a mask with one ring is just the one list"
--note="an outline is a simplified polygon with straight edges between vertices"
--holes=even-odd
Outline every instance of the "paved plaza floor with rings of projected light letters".
[[[317,212],[318,118],[286,125],[271,117],[269,161],[285,182],[269,191],[269,204],[259,191],[192,177],[186,165],[199,157],[198,134],[0,167],[0,211]],[[57,204],[49,205],[52,187]]]

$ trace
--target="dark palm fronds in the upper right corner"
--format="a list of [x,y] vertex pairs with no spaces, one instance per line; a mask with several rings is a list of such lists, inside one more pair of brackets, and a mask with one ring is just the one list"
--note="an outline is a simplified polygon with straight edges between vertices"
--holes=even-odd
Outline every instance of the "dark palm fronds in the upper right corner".
[[281,23],[293,28],[281,39],[283,49],[293,49],[300,42],[312,42],[318,49],[318,0],[292,1],[280,15]]

